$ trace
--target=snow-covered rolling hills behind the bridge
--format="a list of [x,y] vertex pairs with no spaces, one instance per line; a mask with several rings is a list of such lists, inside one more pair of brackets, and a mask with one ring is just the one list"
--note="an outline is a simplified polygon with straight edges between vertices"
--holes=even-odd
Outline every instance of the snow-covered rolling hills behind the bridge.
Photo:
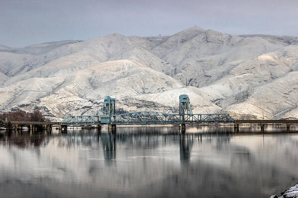
[[192,27],[172,36],[0,45],[0,111],[40,109],[60,120],[100,114],[110,95],[118,112],[178,112],[180,94],[196,113],[298,119],[298,38]]

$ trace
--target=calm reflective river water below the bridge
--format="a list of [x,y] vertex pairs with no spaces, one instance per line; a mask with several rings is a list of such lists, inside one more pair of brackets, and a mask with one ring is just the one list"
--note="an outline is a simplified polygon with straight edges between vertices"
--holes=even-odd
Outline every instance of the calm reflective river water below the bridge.
[[269,198],[298,182],[298,133],[283,130],[0,132],[0,198]]

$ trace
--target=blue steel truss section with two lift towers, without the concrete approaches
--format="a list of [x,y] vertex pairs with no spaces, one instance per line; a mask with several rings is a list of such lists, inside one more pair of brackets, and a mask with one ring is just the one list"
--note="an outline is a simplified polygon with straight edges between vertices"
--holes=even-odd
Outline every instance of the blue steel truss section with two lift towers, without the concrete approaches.
[[115,114],[115,98],[104,98],[102,114],[91,116],[67,116],[61,125],[167,125],[200,123],[234,123],[228,114],[193,114],[187,95],[179,96],[179,114],[154,111],[129,112]]

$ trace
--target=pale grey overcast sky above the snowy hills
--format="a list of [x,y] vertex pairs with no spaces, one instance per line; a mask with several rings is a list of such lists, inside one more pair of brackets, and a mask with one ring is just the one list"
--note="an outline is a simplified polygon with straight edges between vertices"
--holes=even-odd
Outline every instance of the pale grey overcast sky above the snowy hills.
[[298,0],[0,0],[0,44],[172,35],[195,25],[298,36],[297,10]]

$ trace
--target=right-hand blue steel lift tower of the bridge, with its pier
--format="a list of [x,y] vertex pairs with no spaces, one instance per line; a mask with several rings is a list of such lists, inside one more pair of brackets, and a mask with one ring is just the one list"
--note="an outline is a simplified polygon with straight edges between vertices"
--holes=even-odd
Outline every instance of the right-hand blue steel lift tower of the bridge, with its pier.
[[[187,120],[189,115],[193,115],[193,110],[188,95],[179,96],[179,117],[182,122]],[[180,124],[180,129],[185,129],[185,124]]]

